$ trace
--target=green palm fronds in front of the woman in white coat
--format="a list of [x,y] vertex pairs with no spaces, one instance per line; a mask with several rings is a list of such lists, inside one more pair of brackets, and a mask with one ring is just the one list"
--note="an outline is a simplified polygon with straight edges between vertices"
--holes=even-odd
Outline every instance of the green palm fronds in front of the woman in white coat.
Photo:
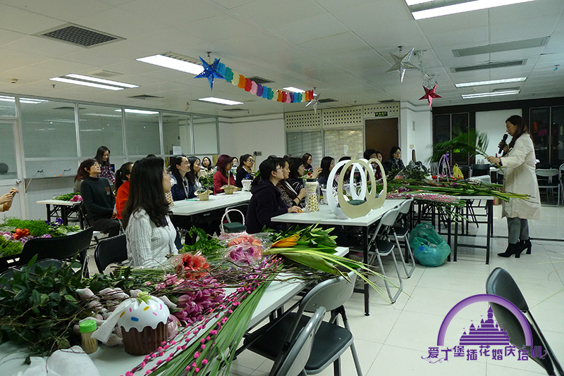
[[454,133],[457,134],[455,138],[435,145],[431,162],[438,162],[443,154],[452,152],[467,154],[470,157],[487,156],[488,136],[485,133],[475,130],[464,133],[460,128],[455,128]]

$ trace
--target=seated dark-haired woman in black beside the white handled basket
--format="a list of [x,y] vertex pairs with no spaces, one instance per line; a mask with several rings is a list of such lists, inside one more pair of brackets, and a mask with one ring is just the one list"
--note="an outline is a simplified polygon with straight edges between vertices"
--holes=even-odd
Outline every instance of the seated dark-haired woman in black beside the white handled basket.
[[271,218],[285,213],[298,213],[298,206],[286,207],[280,198],[276,184],[283,180],[284,173],[281,165],[274,159],[266,159],[259,166],[259,177],[252,182],[252,197],[245,215],[245,224],[249,234],[256,234],[262,227],[273,227]]

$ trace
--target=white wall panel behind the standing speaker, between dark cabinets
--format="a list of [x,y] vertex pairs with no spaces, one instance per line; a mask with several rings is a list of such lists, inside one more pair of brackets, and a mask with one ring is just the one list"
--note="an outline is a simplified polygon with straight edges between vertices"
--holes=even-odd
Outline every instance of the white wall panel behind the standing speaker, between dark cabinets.
[[[520,108],[515,110],[500,110],[500,111],[482,111],[476,113],[476,131],[487,134],[488,136],[488,148],[486,149],[489,156],[495,156],[499,151],[498,144],[501,141],[501,137],[505,132],[505,120],[507,120],[511,115],[522,115]],[[508,138],[507,143],[511,141]],[[477,163],[482,157],[477,156]]]

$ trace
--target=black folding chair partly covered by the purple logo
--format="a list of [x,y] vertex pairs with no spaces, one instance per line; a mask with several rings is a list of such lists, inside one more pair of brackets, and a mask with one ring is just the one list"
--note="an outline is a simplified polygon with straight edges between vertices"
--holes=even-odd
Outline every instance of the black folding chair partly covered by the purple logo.
[[[541,332],[541,328],[537,325],[534,320],[531,311],[529,311],[529,306],[527,306],[527,301],[525,301],[525,296],[521,293],[521,290],[513,280],[513,277],[509,272],[502,268],[495,268],[494,271],[488,277],[486,281],[486,293],[501,296],[507,299],[511,303],[515,304],[517,308],[527,315],[527,321],[529,322],[529,327],[533,334],[533,346],[541,346],[541,349],[546,351],[546,356],[544,358],[532,357],[531,350],[529,349],[529,358],[532,358],[535,362],[539,363],[548,375],[560,375],[564,376],[564,371],[558,363],[556,356],[554,355],[548,342],[544,338]],[[511,344],[523,348],[525,346],[525,332],[521,327],[520,322],[515,318],[515,315],[511,313],[507,308],[500,306],[496,303],[489,303],[491,310],[494,311],[494,316],[496,320],[503,326],[503,330],[509,335],[509,341]],[[555,313],[558,314],[558,313]]]

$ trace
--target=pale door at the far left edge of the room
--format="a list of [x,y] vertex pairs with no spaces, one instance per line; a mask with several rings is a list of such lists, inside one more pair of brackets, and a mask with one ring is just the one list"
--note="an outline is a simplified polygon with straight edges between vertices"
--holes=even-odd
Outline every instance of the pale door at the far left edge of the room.
[[14,197],[10,210],[0,213],[0,223],[4,222],[5,217],[24,218],[25,213],[25,189],[17,125],[16,121],[0,120],[0,196],[8,193],[13,187],[20,191]]

